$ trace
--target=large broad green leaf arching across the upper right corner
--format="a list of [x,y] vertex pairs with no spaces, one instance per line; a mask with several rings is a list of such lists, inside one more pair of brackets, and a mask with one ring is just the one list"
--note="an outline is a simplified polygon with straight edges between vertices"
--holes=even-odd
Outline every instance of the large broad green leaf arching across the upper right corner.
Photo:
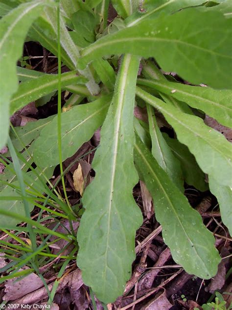
[[85,67],[95,58],[128,52],[155,57],[164,71],[174,71],[193,84],[232,88],[231,35],[231,19],[192,8],[100,38],[83,50],[79,65]]

